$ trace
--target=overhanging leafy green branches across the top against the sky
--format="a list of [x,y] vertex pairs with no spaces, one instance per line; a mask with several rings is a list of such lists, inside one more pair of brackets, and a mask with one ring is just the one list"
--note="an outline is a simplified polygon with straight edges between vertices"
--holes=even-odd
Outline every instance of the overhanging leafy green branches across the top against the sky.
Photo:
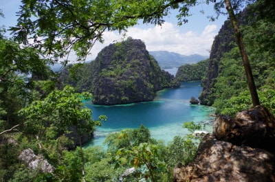
[[161,25],[171,9],[179,9],[179,21],[189,16],[188,8],[196,1],[37,1],[23,0],[18,24],[11,27],[14,38],[25,45],[41,49],[58,60],[74,51],[78,60],[85,60],[96,41],[109,30],[126,30],[144,23]]

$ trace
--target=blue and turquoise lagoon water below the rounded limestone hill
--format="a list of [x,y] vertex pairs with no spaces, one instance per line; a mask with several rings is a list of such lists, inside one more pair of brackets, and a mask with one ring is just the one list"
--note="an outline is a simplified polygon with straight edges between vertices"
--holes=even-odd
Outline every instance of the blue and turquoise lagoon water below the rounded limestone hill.
[[188,130],[182,128],[184,122],[201,122],[211,120],[210,106],[193,105],[189,100],[198,97],[201,92],[200,82],[182,82],[177,89],[164,89],[157,92],[152,102],[123,104],[115,106],[86,106],[93,112],[97,120],[99,115],[106,115],[107,122],[96,129],[94,139],[87,146],[102,145],[109,133],[118,132],[124,128],[138,128],[141,124],[149,128],[151,136],[165,142],[172,141],[176,135],[186,135]]

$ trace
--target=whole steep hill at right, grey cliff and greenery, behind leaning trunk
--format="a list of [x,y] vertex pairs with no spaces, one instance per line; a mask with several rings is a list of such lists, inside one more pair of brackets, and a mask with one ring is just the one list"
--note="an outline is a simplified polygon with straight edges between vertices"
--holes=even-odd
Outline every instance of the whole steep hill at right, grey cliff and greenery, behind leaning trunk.
[[[275,113],[275,24],[246,8],[238,16],[261,104]],[[250,93],[239,48],[229,21],[214,38],[208,73],[202,80],[201,104],[217,107],[217,112],[234,114],[251,106]]]

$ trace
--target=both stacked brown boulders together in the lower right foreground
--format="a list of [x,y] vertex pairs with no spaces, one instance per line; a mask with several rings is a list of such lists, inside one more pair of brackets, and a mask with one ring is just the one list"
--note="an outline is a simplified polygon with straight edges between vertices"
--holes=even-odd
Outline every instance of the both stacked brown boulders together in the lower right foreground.
[[275,118],[263,106],[217,117],[197,157],[174,181],[275,181]]

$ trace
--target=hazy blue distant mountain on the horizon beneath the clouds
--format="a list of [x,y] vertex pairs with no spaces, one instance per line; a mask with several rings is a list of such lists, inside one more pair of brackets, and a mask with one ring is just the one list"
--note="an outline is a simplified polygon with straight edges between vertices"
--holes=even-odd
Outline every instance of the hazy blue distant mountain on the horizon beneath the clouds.
[[197,63],[200,60],[205,60],[209,56],[201,56],[199,54],[191,54],[189,56],[177,54],[175,52],[156,51],[149,52],[159,63],[162,69],[180,67],[181,65]]

